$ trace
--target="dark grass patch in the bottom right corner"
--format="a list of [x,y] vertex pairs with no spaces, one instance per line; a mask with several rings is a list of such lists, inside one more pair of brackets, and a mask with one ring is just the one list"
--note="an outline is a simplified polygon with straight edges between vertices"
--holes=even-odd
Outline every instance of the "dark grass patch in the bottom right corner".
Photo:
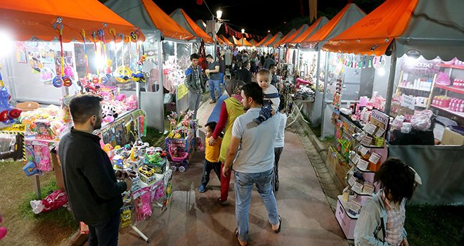
[[409,245],[464,245],[464,206],[408,205]]

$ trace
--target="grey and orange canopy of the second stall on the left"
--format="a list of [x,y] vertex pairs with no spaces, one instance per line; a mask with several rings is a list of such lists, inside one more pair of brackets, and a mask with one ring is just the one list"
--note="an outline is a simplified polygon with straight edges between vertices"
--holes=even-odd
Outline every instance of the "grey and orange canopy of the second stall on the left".
[[153,33],[160,30],[168,39],[193,39],[192,34],[172,20],[151,0],[109,0],[105,2],[105,6],[140,27],[143,32]]

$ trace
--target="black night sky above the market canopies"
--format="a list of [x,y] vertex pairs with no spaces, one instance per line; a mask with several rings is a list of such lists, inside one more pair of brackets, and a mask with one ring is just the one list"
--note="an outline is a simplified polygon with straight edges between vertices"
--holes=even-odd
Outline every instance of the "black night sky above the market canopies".
[[[221,8],[223,11],[222,19],[229,20],[231,27],[240,32],[245,28],[245,32],[250,34],[262,35],[271,30],[271,34],[282,31],[286,34],[292,28],[298,28],[304,23],[309,24],[309,1],[308,0],[205,0],[202,5],[196,4],[196,0],[153,0],[168,15],[176,8],[183,8],[193,20],[211,20]],[[380,5],[383,0],[358,0],[355,4],[366,11],[372,11]],[[349,1],[331,0],[318,1],[318,17],[326,15],[332,18]],[[207,4],[207,6],[205,5]],[[220,32],[224,32],[221,28]]]

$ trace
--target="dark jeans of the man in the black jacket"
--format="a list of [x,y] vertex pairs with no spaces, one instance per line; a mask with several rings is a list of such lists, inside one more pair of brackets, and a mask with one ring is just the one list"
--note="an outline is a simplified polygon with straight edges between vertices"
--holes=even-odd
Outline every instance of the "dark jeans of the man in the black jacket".
[[115,215],[96,224],[89,224],[89,246],[116,246],[120,231],[121,214]]

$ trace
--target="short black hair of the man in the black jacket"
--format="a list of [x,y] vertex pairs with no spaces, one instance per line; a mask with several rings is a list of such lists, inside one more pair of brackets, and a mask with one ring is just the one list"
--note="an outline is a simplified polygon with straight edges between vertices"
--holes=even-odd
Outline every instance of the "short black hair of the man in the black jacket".
[[92,115],[98,116],[100,113],[101,101],[103,101],[103,98],[89,94],[72,98],[70,101],[72,121],[77,124],[83,124],[92,117]]

